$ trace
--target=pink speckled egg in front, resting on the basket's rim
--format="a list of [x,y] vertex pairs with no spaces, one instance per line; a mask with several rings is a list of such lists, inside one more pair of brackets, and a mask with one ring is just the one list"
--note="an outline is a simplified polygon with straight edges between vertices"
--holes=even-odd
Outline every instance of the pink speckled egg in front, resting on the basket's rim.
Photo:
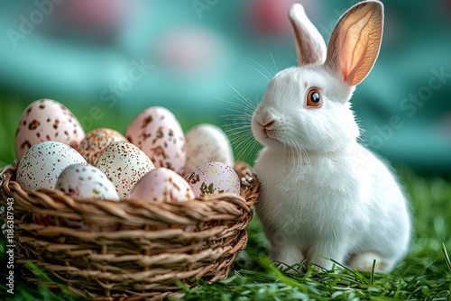
[[177,203],[194,199],[187,181],[175,171],[153,169],[133,187],[127,198],[140,198],[158,203]]

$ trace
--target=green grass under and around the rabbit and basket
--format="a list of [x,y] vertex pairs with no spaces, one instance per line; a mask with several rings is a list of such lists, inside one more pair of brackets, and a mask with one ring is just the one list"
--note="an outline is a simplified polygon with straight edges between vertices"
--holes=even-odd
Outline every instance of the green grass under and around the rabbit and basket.
[[[4,142],[0,145],[0,167],[14,160],[12,129],[23,108],[0,102],[0,137]],[[102,126],[122,130],[123,125],[114,126],[114,119],[103,122]],[[199,280],[198,287],[187,290],[184,299],[451,300],[451,178],[422,178],[407,169],[401,169],[400,178],[411,196],[415,233],[410,253],[391,274],[361,273],[339,264],[335,271],[309,267],[303,274],[286,273],[269,260],[268,242],[255,217],[249,227],[248,246],[240,253],[229,278],[213,284]],[[64,286],[61,292],[53,293],[20,278],[15,279],[14,296],[7,294],[4,239],[0,240],[0,267],[0,300],[78,300]],[[21,267],[15,266],[16,277],[20,271]],[[45,274],[41,277],[51,280]]]

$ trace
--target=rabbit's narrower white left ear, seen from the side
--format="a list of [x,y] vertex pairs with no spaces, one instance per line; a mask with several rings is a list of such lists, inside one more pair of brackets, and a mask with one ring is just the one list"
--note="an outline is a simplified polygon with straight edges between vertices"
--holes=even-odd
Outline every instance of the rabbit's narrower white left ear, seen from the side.
[[300,65],[319,64],[326,60],[326,43],[318,29],[308,20],[304,7],[291,5],[289,13]]

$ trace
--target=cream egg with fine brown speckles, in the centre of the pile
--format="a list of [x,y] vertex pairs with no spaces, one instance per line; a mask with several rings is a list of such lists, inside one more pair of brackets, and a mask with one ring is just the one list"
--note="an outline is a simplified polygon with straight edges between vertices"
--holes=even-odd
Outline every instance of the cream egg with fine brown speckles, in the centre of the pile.
[[143,150],[125,141],[109,144],[98,157],[96,167],[113,181],[120,197],[127,196],[146,173],[155,169]]

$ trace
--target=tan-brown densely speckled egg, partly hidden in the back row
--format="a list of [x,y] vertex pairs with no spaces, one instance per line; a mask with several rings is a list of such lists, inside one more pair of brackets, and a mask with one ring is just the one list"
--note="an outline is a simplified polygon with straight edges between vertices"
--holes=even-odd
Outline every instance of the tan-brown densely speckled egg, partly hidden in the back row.
[[96,165],[98,156],[110,143],[127,141],[120,132],[115,130],[99,128],[88,132],[79,146],[78,152],[89,164]]

